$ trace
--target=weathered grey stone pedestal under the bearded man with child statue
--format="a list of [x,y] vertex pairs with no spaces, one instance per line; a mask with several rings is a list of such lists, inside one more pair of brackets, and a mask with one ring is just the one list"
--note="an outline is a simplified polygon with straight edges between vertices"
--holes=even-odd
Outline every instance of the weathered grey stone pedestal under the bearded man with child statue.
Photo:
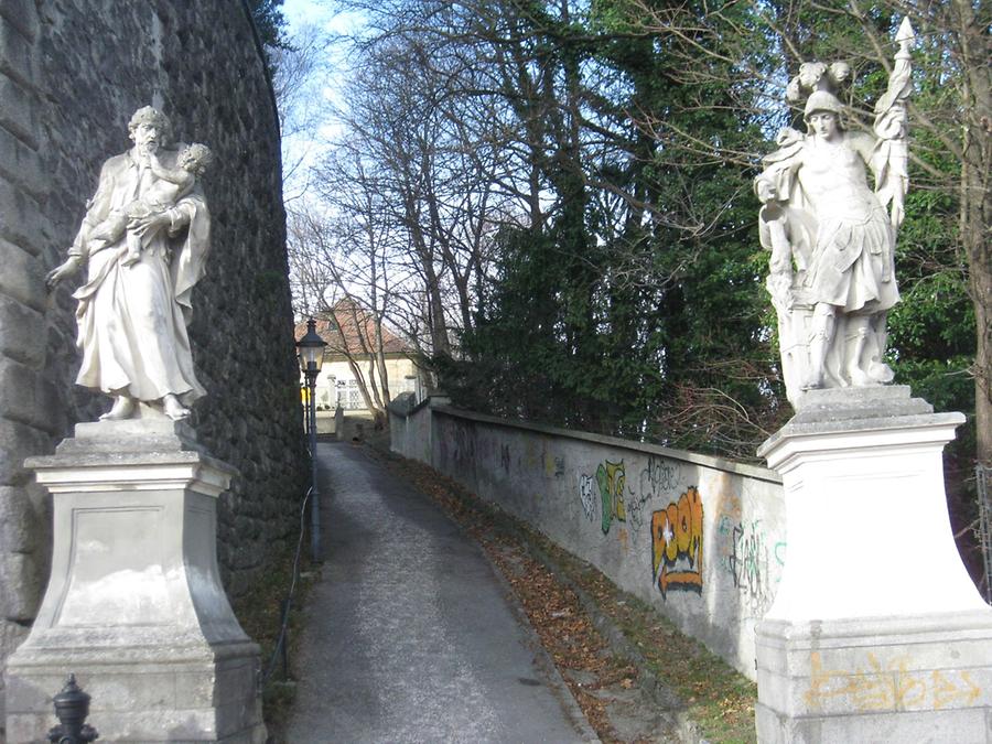
[[8,660],[9,741],[43,738],[72,671],[101,742],[265,742],[258,647],[217,570],[217,497],[234,468],[165,418],[75,433],[26,463],[52,493],[54,552]]

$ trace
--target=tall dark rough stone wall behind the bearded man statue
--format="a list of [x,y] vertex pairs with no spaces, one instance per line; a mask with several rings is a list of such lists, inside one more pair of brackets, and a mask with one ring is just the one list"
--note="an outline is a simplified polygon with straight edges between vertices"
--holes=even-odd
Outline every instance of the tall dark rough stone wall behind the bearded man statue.
[[[194,291],[195,410],[211,452],[239,468],[219,509],[237,597],[298,524],[305,483],[287,281],[278,118],[238,0],[0,2],[0,662],[26,634],[47,578],[48,502],[21,466],[109,400],[73,385],[77,280],[48,295],[103,162],[155,105],[177,140],[207,143],[213,219]],[[2,690],[0,690],[2,702]],[[2,707],[0,707],[2,721]]]

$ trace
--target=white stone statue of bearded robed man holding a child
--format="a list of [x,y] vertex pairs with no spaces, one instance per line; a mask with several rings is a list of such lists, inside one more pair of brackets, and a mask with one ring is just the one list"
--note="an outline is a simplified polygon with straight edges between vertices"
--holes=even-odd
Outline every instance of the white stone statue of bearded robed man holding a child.
[[204,273],[211,218],[200,183],[212,160],[203,144],[172,144],[158,109],[138,109],[133,147],[108,160],[68,250],[47,276],[54,289],[86,267],[76,382],[114,399],[103,419],[128,419],[139,403],[181,420],[206,395],[193,369],[186,326]]

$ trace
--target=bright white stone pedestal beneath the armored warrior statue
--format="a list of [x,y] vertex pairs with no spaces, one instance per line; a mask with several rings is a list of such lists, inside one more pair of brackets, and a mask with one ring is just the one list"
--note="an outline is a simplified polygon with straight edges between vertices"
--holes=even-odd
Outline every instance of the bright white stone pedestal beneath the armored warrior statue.
[[762,445],[788,554],[757,627],[761,742],[992,741],[992,610],[944,490],[963,420],[905,386],[813,391]]

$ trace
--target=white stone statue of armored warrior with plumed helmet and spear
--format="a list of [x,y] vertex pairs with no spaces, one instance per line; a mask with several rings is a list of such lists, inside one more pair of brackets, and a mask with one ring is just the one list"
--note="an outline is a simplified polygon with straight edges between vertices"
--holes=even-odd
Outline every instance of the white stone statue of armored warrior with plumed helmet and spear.
[[908,22],[896,40],[896,65],[871,131],[848,126],[839,96],[850,68],[804,64],[787,99],[802,103],[807,130],[783,129],[779,149],[755,179],[762,245],[772,251],[767,287],[794,406],[807,390],[893,379],[883,357],[886,314],[899,300],[894,258],[908,186]]

